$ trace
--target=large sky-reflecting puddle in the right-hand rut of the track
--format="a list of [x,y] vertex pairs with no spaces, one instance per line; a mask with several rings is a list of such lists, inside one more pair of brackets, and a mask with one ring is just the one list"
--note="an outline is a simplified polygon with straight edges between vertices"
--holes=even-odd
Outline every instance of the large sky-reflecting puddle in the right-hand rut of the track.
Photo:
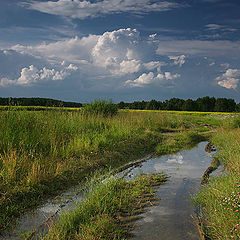
[[136,223],[133,239],[200,239],[193,223],[195,209],[190,198],[198,191],[201,177],[212,161],[211,154],[204,150],[206,144],[202,142],[191,150],[152,158],[127,174],[131,178],[138,173],[164,171],[171,176],[157,190],[159,205],[149,208]]

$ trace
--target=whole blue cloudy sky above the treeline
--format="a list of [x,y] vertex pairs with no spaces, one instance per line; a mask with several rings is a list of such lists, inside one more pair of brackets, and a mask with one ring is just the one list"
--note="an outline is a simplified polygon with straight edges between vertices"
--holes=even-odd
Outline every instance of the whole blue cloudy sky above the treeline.
[[0,0],[0,97],[240,101],[239,0]]

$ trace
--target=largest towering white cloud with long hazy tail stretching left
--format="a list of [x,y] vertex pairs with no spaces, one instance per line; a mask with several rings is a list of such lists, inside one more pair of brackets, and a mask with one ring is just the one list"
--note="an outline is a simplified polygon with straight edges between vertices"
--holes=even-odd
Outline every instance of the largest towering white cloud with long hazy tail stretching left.
[[[84,71],[85,65],[100,67],[113,75],[138,72],[141,68],[142,40],[136,29],[119,29],[102,35],[71,38],[36,46],[15,45],[11,49],[35,58],[44,58],[49,63],[73,62]],[[141,53],[143,56],[145,53]],[[106,73],[105,73],[106,74]]]

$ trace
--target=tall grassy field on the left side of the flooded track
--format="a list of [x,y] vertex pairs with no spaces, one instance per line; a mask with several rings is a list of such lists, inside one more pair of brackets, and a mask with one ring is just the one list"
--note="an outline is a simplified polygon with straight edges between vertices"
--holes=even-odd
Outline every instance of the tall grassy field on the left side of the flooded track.
[[[0,231],[26,208],[79,183],[96,169],[121,166],[157,145],[161,149],[172,138],[176,151],[196,140],[196,132],[222,121],[221,115],[206,113],[131,111],[102,117],[82,112],[1,111]],[[179,131],[195,133],[175,137]],[[163,136],[165,132],[174,134]],[[171,151],[168,147],[159,152]]]

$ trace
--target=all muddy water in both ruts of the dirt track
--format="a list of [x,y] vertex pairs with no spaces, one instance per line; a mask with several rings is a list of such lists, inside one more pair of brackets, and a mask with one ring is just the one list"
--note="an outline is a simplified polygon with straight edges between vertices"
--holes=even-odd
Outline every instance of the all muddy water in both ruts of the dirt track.
[[[130,168],[121,173],[125,174],[127,179],[138,173],[162,171],[170,176],[168,182],[157,190],[161,199],[159,205],[148,208],[137,221],[133,239],[200,239],[197,227],[193,223],[195,209],[190,198],[198,191],[201,177],[212,161],[211,154],[204,150],[206,144],[207,142],[201,142],[191,150],[144,159],[137,166],[130,165]],[[36,230],[38,235],[42,235],[49,222],[56,219],[61,212],[74,207],[74,202],[80,201],[82,197],[81,186],[69,189],[39,208],[27,212],[18,219],[14,230],[4,233],[0,239],[24,239],[23,233]],[[34,235],[32,239],[36,238]]]

